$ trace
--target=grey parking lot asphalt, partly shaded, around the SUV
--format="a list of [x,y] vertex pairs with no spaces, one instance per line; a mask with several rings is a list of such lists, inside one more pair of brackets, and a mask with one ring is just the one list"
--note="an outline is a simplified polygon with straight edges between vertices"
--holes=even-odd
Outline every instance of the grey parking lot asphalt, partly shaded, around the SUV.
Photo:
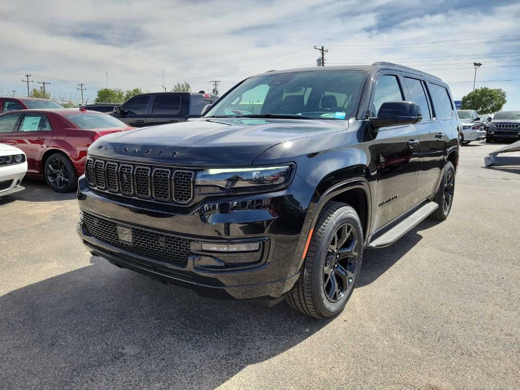
[[74,194],[0,200],[0,388],[520,388],[520,168],[462,147],[445,222],[367,250],[343,313],[201,298],[76,236]]

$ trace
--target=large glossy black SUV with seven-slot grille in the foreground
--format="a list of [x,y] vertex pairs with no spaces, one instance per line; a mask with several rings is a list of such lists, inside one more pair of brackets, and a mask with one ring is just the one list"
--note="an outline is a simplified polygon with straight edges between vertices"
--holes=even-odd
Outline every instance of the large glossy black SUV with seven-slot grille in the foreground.
[[330,317],[365,248],[448,216],[457,125],[445,83],[391,63],[253,76],[203,118],[95,141],[77,232],[202,296]]

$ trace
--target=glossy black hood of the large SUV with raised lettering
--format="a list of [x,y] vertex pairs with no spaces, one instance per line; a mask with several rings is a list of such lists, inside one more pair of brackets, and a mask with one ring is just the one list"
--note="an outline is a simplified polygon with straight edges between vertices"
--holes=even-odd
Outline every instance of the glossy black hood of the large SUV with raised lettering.
[[138,128],[100,137],[88,153],[177,166],[251,165],[281,142],[344,131],[347,121],[218,118]]

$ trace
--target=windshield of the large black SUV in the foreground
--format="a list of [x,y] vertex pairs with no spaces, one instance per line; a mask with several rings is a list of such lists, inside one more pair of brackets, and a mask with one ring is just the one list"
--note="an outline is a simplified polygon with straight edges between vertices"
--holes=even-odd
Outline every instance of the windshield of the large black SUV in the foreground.
[[356,116],[367,73],[303,71],[251,77],[204,115],[348,120]]

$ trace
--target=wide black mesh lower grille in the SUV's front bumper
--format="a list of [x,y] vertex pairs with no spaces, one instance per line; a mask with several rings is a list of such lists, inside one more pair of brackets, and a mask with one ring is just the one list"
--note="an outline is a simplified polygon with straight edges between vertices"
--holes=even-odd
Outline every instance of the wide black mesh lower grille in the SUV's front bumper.
[[[186,265],[190,255],[190,243],[194,240],[141,229],[133,225],[118,224],[110,219],[83,212],[83,224],[89,235],[118,248],[135,252],[148,258]],[[132,243],[121,241],[118,226],[132,230]]]

